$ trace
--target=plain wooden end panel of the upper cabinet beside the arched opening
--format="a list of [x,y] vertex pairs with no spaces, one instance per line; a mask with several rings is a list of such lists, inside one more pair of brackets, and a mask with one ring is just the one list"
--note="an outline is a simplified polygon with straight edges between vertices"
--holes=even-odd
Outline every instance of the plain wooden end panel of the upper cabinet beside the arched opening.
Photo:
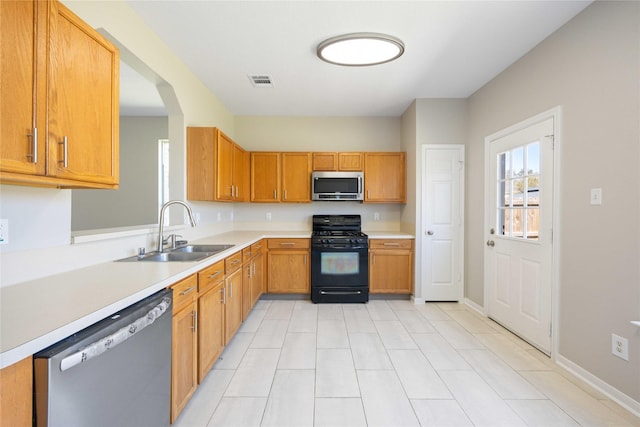
[[215,129],[187,128],[187,198],[215,200]]

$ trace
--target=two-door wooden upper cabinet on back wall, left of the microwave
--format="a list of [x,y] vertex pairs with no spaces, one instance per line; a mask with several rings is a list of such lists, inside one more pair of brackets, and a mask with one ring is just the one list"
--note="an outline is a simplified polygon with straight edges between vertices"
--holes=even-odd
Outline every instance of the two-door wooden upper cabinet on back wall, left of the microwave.
[[311,153],[252,152],[251,201],[311,202]]

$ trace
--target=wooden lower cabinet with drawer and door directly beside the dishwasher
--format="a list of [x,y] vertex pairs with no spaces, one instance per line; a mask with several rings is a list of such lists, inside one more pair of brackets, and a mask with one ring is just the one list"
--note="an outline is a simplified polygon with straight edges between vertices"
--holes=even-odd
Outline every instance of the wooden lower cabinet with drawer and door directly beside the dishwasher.
[[173,288],[171,342],[171,422],[173,423],[198,386],[198,278],[194,274]]

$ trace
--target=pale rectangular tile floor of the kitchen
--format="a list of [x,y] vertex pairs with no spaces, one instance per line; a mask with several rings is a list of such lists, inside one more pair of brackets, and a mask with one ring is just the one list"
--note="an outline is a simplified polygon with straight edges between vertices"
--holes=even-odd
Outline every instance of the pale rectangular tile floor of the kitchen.
[[462,304],[261,300],[177,427],[640,426]]

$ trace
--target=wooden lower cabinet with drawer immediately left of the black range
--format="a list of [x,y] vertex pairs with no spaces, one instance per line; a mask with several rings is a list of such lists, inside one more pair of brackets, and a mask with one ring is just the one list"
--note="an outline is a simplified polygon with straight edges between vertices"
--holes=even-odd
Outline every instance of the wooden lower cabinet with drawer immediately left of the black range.
[[309,239],[267,240],[267,290],[310,293]]

